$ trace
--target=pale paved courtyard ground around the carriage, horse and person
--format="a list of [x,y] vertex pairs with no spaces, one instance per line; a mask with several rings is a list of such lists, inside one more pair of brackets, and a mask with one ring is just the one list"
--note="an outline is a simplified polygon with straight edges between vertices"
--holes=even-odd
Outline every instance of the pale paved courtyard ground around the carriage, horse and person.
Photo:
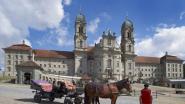
[[[0,104],[36,104],[33,101],[34,93],[30,86],[0,83]],[[153,104],[185,104],[185,96],[178,99],[170,96],[153,96]],[[109,99],[100,99],[101,104],[110,104]],[[41,104],[63,104],[63,99],[56,99],[53,103],[46,100]],[[139,104],[138,95],[120,96],[116,104]]]

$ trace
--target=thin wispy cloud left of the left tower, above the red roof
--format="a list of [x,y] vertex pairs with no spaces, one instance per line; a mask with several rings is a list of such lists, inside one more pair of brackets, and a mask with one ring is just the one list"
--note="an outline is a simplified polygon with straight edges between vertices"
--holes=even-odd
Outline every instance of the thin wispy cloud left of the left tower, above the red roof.
[[70,37],[69,33],[69,14],[66,13],[63,22],[59,27],[51,29],[49,33],[44,35],[37,44],[40,46],[45,46],[46,44],[58,45],[58,46],[72,46],[73,38]]

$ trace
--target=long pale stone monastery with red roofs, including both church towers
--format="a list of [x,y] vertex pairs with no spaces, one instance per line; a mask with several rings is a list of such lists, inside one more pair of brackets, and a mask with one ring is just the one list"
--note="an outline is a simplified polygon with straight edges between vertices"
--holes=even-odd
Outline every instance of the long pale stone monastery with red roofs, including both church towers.
[[135,54],[134,26],[128,18],[120,29],[120,45],[115,33],[107,30],[102,32],[99,43],[89,47],[86,18],[82,13],[76,16],[74,28],[73,51],[33,49],[24,42],[3,48],[5,75],[17,77],[22,82],[43,79],[42,73],[61,76],[87,74],[95,79],[114,80],[129,77],[133,81],[153,83],[183,78],[182,59],[167,53],[162,57]]

